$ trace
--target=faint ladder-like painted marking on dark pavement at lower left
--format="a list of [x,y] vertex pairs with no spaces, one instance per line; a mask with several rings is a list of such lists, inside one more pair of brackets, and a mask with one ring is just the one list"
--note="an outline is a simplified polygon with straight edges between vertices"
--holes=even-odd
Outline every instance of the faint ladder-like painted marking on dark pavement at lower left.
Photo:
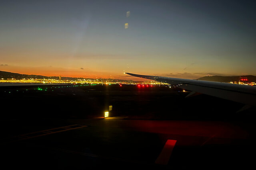
[[78,129],[78,128],[82,128],[82,127],[87,127],[87,126],[86,125],[69,125],[69,126],[64,126],[64,127],[57,127],[57,128],[53,128],[53,129],[47,129],[47,130],[43,130],[43,131],[26,133],[26,134],[17,136],[17,138],[20,138],[20,139],[14,140],[14,141],[21,141],[21,140],[25,140],[25,139],[34,138],[34,137],[50,135],[50,134],[53,134],[53,133],[59,133],[59,132],[63,132],[63,131],[70,131],[70,130]]

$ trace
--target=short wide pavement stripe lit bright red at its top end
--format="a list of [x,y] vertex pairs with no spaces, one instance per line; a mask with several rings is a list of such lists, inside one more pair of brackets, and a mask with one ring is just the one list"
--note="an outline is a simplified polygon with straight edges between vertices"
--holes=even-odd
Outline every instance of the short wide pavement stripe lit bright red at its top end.
[[172,150],[176,144],[176,140],[167,140],[162,152],[159,154],[158,158],[156,159],[156,164],[167,165],[172,154]]

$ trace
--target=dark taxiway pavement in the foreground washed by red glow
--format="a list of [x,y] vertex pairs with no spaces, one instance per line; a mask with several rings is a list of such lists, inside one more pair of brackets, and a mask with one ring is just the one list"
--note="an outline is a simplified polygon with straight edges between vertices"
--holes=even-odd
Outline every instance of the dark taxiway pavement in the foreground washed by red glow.
[[[38,122],[36,128],[40,132],[52,131],[47,129],[49,125],[54,127],[52,129],[59,129],[57,133],[47,135],[38,135],[38,131],[33,131],[34,123],[23,123],[26,123],[30,133],[16,136],[36,135],[22,140],[5,138],[5,143],[1,145],[2,154],[5,155],[3,162],[9,164],[10,168],[17,165],[30,168],[38,165],[96,168],[124,164],[157,169],[203,169],[209,168],[209,165],[211,168],[249,167],[253,162],[250,154],[255,149],[252,145],[254,137],[248,131],[225,122],[144,121],[124,117]],[[12,128],[19,128],[20,124],[12,124]],[[69,124],[76,124],[79,128],[61,131],[62,125]],[[8,129],[8,125],[3,126]],[[10,141],[6,143],[8,139]],[[164,158],[168,160],[166,164],[157,164],[156,160],[168,140],[175,140],[176,145],[172,153]],[[242,163],[244,161],[247,163]]]

